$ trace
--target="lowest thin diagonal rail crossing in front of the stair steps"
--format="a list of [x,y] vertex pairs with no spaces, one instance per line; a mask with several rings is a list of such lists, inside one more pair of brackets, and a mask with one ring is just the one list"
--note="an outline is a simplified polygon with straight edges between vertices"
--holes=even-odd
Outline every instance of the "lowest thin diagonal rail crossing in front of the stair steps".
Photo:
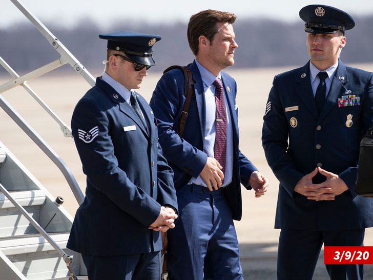
[[9,201],[24,215],[30,224],[49,242],[50,245],[58,252],[58,254],[64,259],[67,269],[70,272],[69,280],[78,280],[75,276],[74,270],[71,268],[73,261],[72,257],[65,253],[65,251],[58,246],[56,242],[49,236],[49,234],[35,221],[35,219],[22,207],[8,192],[8,190],[0,183],[0,191],[9,199]]

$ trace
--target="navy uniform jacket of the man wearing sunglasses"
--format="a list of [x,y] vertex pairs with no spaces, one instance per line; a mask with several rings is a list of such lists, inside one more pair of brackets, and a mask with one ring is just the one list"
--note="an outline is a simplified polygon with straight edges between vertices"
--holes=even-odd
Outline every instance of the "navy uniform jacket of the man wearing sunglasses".
[[161,205],[177,208],[173,172],[158,145],[154,114],[136,95],[149,133],[100,77],[73,112],[72,133],[87,175],[86,197],[67,245],[74,251],[125,255],[162,249],[160,232],[148,227]]

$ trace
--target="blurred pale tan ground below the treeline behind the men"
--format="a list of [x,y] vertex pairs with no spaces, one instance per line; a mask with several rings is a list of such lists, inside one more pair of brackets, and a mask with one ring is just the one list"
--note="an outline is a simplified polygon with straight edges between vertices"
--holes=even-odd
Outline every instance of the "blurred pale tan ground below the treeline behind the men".
[[[373,65],[354,65],[373,71]],[[275,258],[279,231],[274,229],[278,181],[267,166],[261,146],[262,116],[272,80],[277,73],[291,69],[226,69],[238,84],[237,104],[240,126],[240,149],[270,179],[270,189],[261,198],[243,188],[243,218],[236,223],[241,245],[242,266],[246,279],[275,279]],[[58,70],[57,70],[58,71]],[[92,73],[94,76],[101,73]],[[149,71],[138,90],[149,101],[161,73]],[[0,77],[0,84],[10,76]],[[27,83],[46,104],[70,126],[71,114],[78,99],[90,88],[79,75],[58,75],[58,72],[35,78]],[[63,159],[74,174],[81,190],[85,176],[72,138],[66,138],[57,123],[34,101],[22,87],[2,94],[7,102],[34,128],[34,130]],[[40,152],[28,136],[0,109],[0,141],[31,171],[54,196],[65,198],[64,207],[74,216],[77,203],[64,176],[50,159]],[[366,245],[373,246],[373,231],[366,231]],[[370,266],[371,267],[371,266]],[[320,264],[315,279],[326,278]],[[368,267],[366,268],[368,272]],[[319,271],[319,270],[318,270]]]

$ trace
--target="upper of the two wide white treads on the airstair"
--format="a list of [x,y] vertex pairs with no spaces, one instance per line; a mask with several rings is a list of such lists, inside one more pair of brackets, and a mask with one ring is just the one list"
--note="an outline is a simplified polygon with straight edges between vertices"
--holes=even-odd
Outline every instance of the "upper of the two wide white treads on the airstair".
[[[45,193],[42,190],[12,191],[10,193],[21,206],[43,205],[46,201]],[[0,192],[0,209],[13,207],[14,205],[9,201],[4,193]]]

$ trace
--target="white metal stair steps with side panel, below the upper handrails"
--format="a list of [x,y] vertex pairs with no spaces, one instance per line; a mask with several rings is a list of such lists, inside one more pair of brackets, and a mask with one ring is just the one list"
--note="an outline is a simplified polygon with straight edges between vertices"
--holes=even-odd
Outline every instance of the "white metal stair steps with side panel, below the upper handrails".
[[1,142],[0,155],[0,278],[86,274],[80,255],[66,249],[72,217],[63,198],[54,199]]

